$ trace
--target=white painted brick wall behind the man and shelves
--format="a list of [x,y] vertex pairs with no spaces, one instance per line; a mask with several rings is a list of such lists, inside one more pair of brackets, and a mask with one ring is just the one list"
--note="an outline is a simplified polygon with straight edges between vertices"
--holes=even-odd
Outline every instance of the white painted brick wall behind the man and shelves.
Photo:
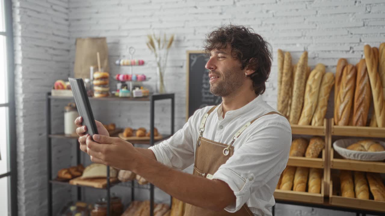
[[[20,215],[45,213],[44,201],[41,204],[31,201],[31,197],[45,199],[46,162],[40,159],[45,158],[44,93],[55,80],[73,74],[77,37],[107,37],[112,75],[126,71],[113,63],[118,58],[127,58],[128,47],[134,46],[135,57],[147,62],[134,72],[155,77],[156,66],[145,45],[146,34],[152,30],[176,33],[166,73],[167,90],[176,93],[176,129],[185,121],[186,50],[201,48],[204,35],[213,27],[229,22],[253,27],[271,43],[275,56],[281,48],[290,51],[296,63],[301,52],[307,50],[310,66],[324,63],[328,71],[335,71],[341,57],[357,63],[366,43],[378,46],[385,41],[385,0],[13,0],[13,3],[15,77],[21,80],[15,85]],[[276,65],[274,60],[263,95],[274,107]],[[39,78],[44,81],[38,81]],[[154,84],[154,80],[147,83],[150,88]],[[111,88],[113,86],[114,83]],[[145,103],[114,102],[95,106],[95,116],[106,123],[134,127],[149,124],[149,108]],[[61,110],[62,105],[56,108]],[[163,102],[157,111],[167,115],[170,112]],[[59,120],[55,122],[57,126],[62,124]],[[157,118],[156,126],[166,131],[168,117]],[[23,158],[30,158],[29,161],[40,166],[30,166]],[[32,167],[32,171],[26,172]],[[41,173],[41,177],[33,176],[35,180],[32,173]],[[35,186],[27,187],[33,183]],[[322,209],[294,210],[288,205],[277,205],[276,213],[337,214]]]

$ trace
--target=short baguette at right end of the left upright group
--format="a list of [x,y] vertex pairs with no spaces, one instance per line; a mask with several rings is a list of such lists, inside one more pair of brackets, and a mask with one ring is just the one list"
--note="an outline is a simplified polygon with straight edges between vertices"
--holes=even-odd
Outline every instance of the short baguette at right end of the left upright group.
[[320,94],[318,95],[317,107],[314,111],[313,118],[311,119],[311,125],[323,126],[323,119],[326,115],[329,95],[333,84],[334,74],[331,72],[325,73],[325,75],[322,77]]

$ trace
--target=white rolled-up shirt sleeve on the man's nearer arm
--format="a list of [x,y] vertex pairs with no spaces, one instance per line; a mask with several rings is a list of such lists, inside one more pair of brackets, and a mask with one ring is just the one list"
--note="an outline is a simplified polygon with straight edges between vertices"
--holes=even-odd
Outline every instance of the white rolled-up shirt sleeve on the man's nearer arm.
[[[214,173],[213,179],[226,182],[236,196],[236,203],[227,206],[226,211],[234,213],[241,209],[250,194],[285,168],[291,145],[291,128],[286,121],[262,121]],[[274,190],[271,196],[273,193]]]

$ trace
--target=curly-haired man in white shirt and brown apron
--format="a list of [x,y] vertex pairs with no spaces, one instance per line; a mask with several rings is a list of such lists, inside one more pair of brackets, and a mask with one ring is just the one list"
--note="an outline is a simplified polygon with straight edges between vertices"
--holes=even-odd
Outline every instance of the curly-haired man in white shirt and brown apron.
[[[211,32],[210,91],[223,103],[197,110],[171,138],[149,149],[78,125],[80,148],[95,163],[139,174],[186,202],[185,215],[271,215],[273,193],[288,161],[291,128],[261,94],[271,68],[269,43],[243,26]],[[194,164],[193,174],[179,170]],[[204,177],[204,178],[202,178]]]

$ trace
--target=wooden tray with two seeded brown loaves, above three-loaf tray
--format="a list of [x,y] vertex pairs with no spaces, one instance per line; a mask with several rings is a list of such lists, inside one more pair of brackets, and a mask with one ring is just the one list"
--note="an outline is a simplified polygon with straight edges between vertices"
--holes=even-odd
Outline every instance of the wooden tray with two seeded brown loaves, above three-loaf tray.
[[314,136],[294,139],[291,143],[288,166],[323,168],[325,164],[325,140]]

